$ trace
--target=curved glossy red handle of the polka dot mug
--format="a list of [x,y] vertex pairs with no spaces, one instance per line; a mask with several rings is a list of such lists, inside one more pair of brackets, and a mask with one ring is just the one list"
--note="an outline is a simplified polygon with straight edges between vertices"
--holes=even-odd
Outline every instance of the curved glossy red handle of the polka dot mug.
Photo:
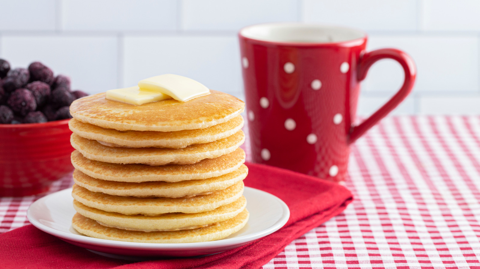
[[379,110],[373,113],[368,119],[360,123],[357,126],[351,126],[348,134],[348,144],[355,142],[360,136],[365,134],[368,129],[378,123],[383,117],[390,113],[401,101],[403,101],[407,95],[412,91],[415,78],[417,76],[417,69],[413,59],[405,52],[394,48],[377,49],[371,52],[365,53],[360,57],[359,64],[357,65],[357,80],[360,82],[367,76],[368,69],[378,60],[381,59],[394,59],[396,60],[405,71],[405,80],[403,85],[396,92],[396,94],[388,100]]

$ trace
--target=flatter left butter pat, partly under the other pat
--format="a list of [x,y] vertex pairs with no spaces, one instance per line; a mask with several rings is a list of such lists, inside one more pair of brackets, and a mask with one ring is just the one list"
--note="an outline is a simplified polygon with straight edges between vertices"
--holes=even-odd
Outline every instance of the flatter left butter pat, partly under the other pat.
[[107,100],[117,101],[132,105],[171,99],[170,96],[158,91],[140,90],[138,86],[129,88],[107,90]]

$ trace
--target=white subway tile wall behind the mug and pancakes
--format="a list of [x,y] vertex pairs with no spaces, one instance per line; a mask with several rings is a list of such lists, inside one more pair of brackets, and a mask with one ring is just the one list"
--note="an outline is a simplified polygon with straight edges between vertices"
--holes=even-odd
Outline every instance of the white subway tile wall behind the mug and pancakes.
[[[262,22],[366,30],[369,49],[396,47],[416,61],[414,93],[394,113],[480,113],[477,0],[0,0],[0,57],[41,60],[91,93],[159,73],[242,94],[237,31]],[[403,79],[391,60],[372,66],[359,114]]]

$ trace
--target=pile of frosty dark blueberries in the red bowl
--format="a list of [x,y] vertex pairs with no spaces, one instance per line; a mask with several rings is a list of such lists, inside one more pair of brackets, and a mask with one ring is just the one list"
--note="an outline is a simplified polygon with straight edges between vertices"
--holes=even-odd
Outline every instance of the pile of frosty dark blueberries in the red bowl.
[[28,69],[10,69],[10,63],[0,59],[0,124],[72,118],[70,104],[87,95],[70,90],[69,77],[53,76],[53,71],[40,62],[31,63]]

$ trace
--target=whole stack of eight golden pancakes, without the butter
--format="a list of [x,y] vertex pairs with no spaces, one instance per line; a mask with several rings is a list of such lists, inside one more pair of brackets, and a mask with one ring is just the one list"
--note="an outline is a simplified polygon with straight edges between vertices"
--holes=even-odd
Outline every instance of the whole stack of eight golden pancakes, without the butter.
[[243,109],[239,99],[213,90],[139,106],[105,93],[74,101],[73,228],[149,243],[204,242],[239,231],[249,217]]

